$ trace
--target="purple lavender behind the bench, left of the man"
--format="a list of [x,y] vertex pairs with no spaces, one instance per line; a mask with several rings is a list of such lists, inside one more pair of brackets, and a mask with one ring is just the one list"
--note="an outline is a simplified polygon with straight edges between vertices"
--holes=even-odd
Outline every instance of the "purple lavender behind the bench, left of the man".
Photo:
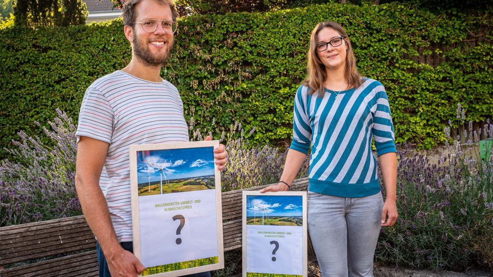
[[52,130],[43,127],[54,146],[21,131],[16,148],[5,149],[19,162],[0,161],[0,226],[82,214],[74,187],[76,127],[64,112],[57,113],[49,122]]

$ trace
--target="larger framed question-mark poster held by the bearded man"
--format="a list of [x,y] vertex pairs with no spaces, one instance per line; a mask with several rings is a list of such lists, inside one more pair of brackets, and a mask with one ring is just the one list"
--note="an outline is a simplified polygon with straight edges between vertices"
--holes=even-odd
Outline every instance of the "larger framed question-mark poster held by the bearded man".
[[130,146],[133,252],[142,276],[224,268],[217,140]]

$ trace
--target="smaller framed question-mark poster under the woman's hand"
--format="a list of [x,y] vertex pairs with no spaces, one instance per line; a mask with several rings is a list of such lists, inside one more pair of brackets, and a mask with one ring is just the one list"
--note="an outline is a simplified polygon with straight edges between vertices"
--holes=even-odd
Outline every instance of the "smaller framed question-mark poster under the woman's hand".
[[306,191],[243,192],[243,277],[307,276]]

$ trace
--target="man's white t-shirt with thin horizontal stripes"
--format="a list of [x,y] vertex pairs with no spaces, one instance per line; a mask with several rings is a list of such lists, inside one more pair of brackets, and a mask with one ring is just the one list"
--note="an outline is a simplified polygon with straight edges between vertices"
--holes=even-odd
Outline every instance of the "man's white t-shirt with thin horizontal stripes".
[[178,90],[120,70],[101,77],[86,90],[76,136],[110,143],[100,186],[118,240],[132,241],[128,146],[189,141]]

